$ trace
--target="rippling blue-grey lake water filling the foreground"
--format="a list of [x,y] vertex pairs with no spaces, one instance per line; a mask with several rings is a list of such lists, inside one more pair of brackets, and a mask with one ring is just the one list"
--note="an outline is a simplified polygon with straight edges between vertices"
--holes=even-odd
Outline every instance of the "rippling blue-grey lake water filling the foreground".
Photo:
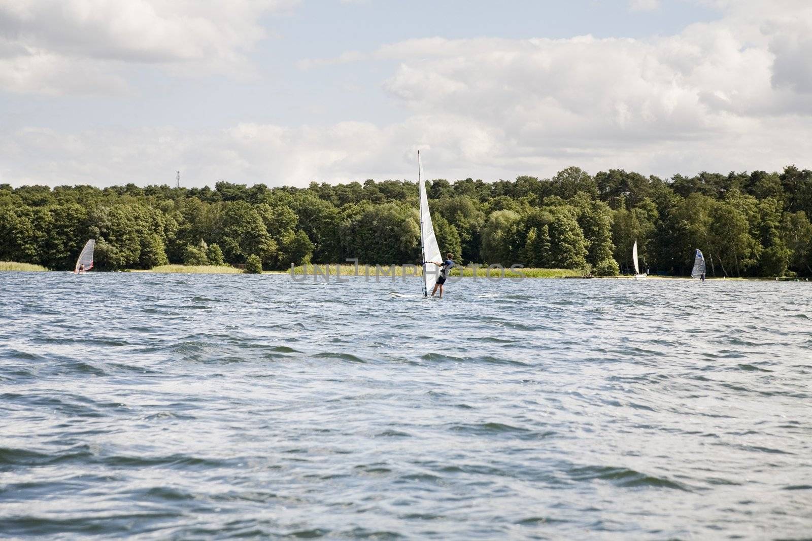
[[419,290],[0,273],[0,537],[812,535],[812,282]]

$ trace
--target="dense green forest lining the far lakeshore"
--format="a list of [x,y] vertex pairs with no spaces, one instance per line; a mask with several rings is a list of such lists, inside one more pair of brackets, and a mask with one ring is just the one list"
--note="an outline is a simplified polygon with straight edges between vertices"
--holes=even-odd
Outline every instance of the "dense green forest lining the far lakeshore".
[[[443,253],[462,264],[687,275],[694,248],[709,276],[812,275],[812,171],[680,174],[624,170],[552,178],[429,182]],[[0,184],[0,260],[72,269],[88,238],[97,270],[176,264],[406,264],[421,259],[417,183],[367,180],[307,188],[217,182],[214,189],[135,184]]]

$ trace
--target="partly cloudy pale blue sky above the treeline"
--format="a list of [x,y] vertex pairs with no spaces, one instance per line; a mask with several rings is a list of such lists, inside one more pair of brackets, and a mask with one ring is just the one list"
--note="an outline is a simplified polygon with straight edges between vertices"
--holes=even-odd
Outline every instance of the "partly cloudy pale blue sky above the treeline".
[[0,0],[0,183],[812,167],[810,0]]

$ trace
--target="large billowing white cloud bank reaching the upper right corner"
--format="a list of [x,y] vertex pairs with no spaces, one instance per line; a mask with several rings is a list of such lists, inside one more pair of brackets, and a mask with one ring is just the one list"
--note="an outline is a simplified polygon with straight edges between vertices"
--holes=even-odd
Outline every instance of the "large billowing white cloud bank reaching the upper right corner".
[[650,40],[432,38],[378,56],[400,60],[393,97],[499,127],[508,163],[777,169],[812,151],[810,30],[809,2],[732,2],[718,22]]

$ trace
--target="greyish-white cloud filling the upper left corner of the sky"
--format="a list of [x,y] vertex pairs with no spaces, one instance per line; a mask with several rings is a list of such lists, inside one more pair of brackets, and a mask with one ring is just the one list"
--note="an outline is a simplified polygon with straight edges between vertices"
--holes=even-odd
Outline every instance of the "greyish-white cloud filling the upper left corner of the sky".
[[296,0],[0,0],[0,89],[120,92],[123,66],[245,75],[258,19]]

